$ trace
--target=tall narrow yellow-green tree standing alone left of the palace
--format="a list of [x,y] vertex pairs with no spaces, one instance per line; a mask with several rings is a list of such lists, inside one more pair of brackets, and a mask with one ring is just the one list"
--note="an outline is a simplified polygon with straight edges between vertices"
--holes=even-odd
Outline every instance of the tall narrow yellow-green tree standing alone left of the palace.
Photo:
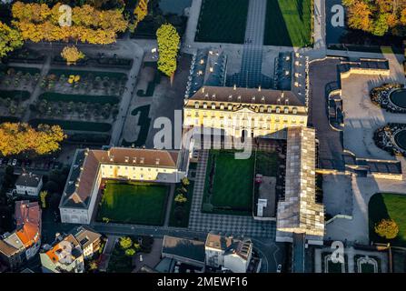
[[171,77],[173,81],[173,74],[176,71],[176,57],[179,51],[180,37],[173,25],[165,24],[158,28],[156,31],[158,41],[158,69],[163,74]]

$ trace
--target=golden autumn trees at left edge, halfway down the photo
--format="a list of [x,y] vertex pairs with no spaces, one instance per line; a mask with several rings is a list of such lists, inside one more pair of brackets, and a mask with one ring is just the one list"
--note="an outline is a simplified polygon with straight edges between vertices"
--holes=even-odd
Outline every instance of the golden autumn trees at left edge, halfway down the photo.
[[66,135],[58,125],[33,128],[25,123],[3,123],[0,125],[0,152],[3,156],[47,155],[58,150],[64,138]]

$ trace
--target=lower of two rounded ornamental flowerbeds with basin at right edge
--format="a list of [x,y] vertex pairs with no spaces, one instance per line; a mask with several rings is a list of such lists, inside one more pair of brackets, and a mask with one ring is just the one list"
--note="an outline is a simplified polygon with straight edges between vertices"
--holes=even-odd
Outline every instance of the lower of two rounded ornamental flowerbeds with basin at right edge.
[[392,156],[406,156],[406,124],[387,124],[378,128],[373,141]]

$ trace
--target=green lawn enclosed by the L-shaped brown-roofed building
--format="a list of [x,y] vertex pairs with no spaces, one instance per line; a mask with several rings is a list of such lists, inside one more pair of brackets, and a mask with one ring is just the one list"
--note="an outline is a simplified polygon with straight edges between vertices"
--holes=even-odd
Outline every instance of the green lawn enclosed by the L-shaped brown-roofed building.
[[97,220],[163,226],[167,194],[167,186],[107,181]]

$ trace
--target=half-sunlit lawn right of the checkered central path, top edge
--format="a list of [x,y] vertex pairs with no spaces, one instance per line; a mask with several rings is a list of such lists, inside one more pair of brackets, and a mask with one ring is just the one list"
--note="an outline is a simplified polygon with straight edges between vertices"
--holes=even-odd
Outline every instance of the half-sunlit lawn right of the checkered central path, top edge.
[[264,45],[312,45],[312,0],[268,0]]

